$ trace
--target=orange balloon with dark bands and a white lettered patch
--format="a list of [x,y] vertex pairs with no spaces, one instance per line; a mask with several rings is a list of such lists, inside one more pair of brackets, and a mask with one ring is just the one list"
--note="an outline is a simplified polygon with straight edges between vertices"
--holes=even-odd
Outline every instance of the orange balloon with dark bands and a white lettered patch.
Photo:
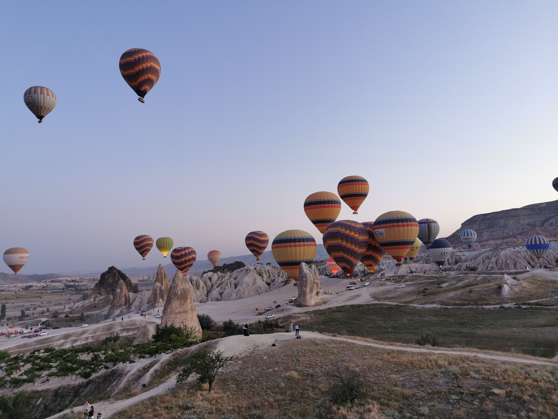
[[389,256],[401,263],[419,234],[416,218],[405,211],[388,211],[374,221],[374,237]]

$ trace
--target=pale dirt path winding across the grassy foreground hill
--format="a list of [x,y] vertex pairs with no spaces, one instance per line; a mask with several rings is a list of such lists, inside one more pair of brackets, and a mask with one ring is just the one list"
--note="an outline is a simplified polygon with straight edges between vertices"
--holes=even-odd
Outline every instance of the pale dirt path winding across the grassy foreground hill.
[[[322,340],[341,340],[345,342],[352,342],[358,345],[365,345],[365,346],[374,346],[381,349],[389,349],[389,350],[396,350],[396,351],[408,351],[408,352],[415,352],[415,353],[434,353],[434,354],[449,354],[449,355],[460,355],[460,356],[472,356],[473,358],[483,358],[483,359],[490,359],[494,361],[508,361],[508,362],[517,362],[523,364],[531,364],[531,365],[546,365],[546,366],[558,366],[558,363],[548,362],[548,361],[539,361],[535,359],[526,359],[526,358],[516,358],[512,356],[502,356],[502,355],[489,355],[483,353],[476,353],[476,352],[466,352],[466,351],[450,351],[450,350],[438,350],[438,349],[429,349],[424,347],[406,347],[406,346],[392,346],[392,345],[382,345],[382,344],[375,344],[372,342],[365,342],[362,340],[353,340],[348,339],[347,337],[340,337],[340,336],[326,336],[321,335],[316,332],[301,332],[302,339],[322,339]],[[242,335],[237,336],[229,336],[224,337],[223,339],[218,340],[217,347],[215,350],[223,351],[224,355],[246,355],[253,350],[263,349],[264,347],[270,347],[273,342],[276,340],[279,344],[283,341],[292,340],[294,339],[294,332],[291,333],[274,333],[271,335],[251,335],[250,337],[244,337]],[[190,378],[191,379],[191,378]],[[94,403],[95,412],[102,412],[103,417],[109,418],[114,413],[124,410],[125,408],[132,406],[132,404],[136,404],[150,398],[152,396],[156,396],[157,394],[166,393],[174,388],[176,385],[176,377],[172,377],[167,380],[165,383],[159,385],[142,394],[138,394],[138,396],[126,399],[126,400],[119,400],[116,402],[97,402]],[[78,408],[74,409],[78,412]],[[65,410],[64,412],[57,413],[54,416],[50,416],[47,419],[55,419],[60,418],[65,413],[69,413],[70,410]]]

